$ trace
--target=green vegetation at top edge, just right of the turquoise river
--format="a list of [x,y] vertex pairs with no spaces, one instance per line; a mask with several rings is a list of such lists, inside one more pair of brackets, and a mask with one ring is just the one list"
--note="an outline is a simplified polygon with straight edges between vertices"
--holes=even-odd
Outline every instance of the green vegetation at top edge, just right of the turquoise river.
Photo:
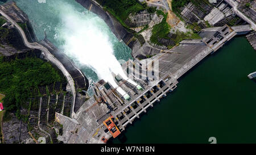
[[[115,16],[123,25],[129,14],[135,14],[139,11],[148,9],[146,4],[142,4],[137,0],[96,0]],[[152,9],[148,9],[151,11]]]

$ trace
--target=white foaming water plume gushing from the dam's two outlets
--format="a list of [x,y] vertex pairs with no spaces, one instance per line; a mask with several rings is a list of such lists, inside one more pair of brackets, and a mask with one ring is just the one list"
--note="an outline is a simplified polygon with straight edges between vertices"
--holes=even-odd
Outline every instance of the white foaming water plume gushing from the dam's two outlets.
[[109,36],[96,26],[96,20],[86,19],[84,14],[76,11],[71,12],[71,10],[64,11],[61,14],[61,19],[63,20],[63,27],[60,29],[60,37],[64,40],[65,53],[75,57],[80,64],[92,68],[98,77],[109,82],[124,98],[130,98],[114,81],[112,73],[119,74],[135,86],[137,83],[129,79],[123,72],[121,65],[114,56],[113,45]]

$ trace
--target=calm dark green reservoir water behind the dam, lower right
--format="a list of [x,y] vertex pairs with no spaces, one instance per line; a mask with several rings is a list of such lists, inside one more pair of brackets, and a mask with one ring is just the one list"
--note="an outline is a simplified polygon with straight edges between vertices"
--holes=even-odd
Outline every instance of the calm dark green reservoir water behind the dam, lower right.
[[256,143],[256,51],[235,37],[112,143]]

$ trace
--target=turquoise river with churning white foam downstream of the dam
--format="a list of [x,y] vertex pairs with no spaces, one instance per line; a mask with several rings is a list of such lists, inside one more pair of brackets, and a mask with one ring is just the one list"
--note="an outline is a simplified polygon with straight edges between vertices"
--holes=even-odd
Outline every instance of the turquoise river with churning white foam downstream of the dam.
[[[119,72],[117,60],[133,59],[131,49],[115,37],[104,20],[76,1],[15,2],[28,15],[38,40],[43,40],[46,32],[47,39],[75,62],[90,85],[101,78],[108,80],[109,68]],[[113,60],[116,62],[110,64]]]

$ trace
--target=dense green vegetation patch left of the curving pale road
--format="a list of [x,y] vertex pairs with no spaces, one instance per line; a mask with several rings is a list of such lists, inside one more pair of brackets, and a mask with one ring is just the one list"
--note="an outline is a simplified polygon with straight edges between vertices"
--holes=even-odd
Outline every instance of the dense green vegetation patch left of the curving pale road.
[[39,58],[25,58],[11,62],[0,59],[0,92],[7,111],[19,110],[38,86],[62,81],[59,71]]

